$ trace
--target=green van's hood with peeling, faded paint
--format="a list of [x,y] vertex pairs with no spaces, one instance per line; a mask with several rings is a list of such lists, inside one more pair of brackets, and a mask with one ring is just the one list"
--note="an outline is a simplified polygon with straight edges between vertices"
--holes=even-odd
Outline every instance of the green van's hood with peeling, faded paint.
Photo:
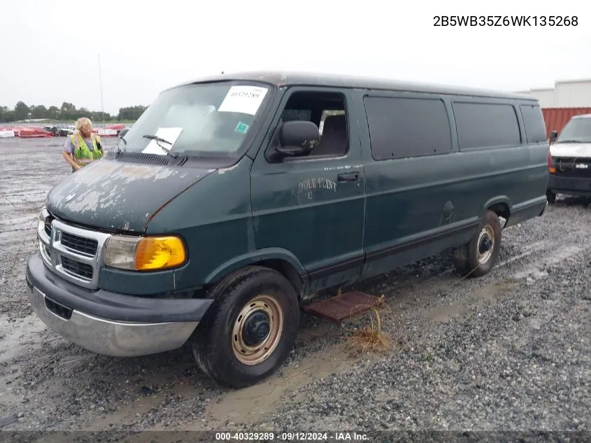
[[143,232],[158,209],[213,171],[102,159],[55,186],[45,206],[54,216],[83,225]]

